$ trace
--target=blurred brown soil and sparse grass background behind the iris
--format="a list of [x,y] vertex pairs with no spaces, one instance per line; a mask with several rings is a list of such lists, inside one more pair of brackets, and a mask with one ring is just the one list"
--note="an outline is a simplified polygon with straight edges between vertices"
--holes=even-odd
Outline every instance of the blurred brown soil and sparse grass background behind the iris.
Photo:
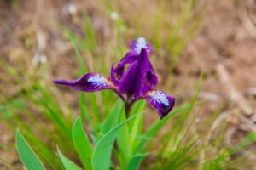
[[[177,105],[188,103],[200,89],[199,104],[189,115],[196,117],[191,135],[196,131],[202,136],[199,145],[219,141],[198,159],[221,155],[222,161],[236,165],[232,160],[242,157],[234,169],[256,169],[255,11],[254,0],[1,0],[0,169],[21,167],[16,127],[40,145],[32,144],[35,150],[50,150],[65,139],[65,134],[55,134],[58,126],[71,126],[79,115],[81,94],[56,87],[52,80],[71,80],[87,71],[108,76],[111,64],[119,62],[137,37],[153,44],[150,60],[160,79],[158,88],[175,96]],[[101,115],[116,99],[102,92],[86,102],[89,111]],[[54,113],[62,122],[52,122]],[[159,119],[149,107],[146,114],[145,128]],[[189,126],[186,121],[184,127]],[[160,133],[163,144],[173,126],[167,125]],[[150,158],[143,169],[147,167]]]

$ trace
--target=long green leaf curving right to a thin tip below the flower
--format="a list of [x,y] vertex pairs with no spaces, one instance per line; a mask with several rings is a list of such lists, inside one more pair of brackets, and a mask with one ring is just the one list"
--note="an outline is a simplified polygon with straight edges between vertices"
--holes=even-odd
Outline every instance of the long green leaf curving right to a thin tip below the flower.
[[131,121],[137,115],[131,116],[125,122],[119,123],[113,127],[102,139],[96,144],[96,149],[92,155],[92,167],[94,170],[108,170],[111,163],[111,151],[113,148],[113,141],[119,133],[119,129],[125,125],[126,122]]

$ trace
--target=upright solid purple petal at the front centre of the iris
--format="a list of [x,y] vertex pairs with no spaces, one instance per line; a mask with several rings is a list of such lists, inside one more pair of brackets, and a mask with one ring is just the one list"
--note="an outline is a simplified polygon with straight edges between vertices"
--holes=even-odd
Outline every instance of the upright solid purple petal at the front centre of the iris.
[[138,95],[142,92],[143,81],[148,70],[148,54],[146,49],[142,49],[140,58],[134,61],[125,71],[119,84],[119,92],[128,96]]

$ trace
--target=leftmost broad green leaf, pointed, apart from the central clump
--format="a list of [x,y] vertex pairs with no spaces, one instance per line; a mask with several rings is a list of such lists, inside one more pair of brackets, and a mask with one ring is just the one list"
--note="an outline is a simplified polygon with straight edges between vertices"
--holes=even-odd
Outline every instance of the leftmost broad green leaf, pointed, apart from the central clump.
[[32,150],[26,139],[20,133],[20,130],[16,131],[16,148],[22,163],[28,170],[44,170],[43,163],[39,160],[38,156]]

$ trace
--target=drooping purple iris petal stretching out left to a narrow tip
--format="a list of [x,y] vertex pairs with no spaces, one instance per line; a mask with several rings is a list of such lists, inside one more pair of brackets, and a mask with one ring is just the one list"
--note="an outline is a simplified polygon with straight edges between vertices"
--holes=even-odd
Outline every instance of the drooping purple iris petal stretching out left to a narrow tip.
[[76,80],[67,82],[66,80],[55,80],[56,84],[72,87],[79,91],[96,92],[102,89],[113,89],[115,86],[108,77],[104,77],[97,73],[87,73]]

